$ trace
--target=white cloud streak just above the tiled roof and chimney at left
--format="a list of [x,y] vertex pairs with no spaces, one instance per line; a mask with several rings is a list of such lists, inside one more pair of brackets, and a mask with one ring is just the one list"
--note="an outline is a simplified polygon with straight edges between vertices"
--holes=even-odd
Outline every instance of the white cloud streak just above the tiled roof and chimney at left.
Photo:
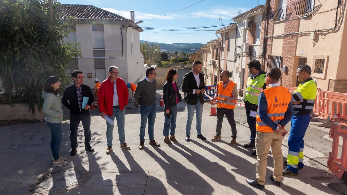
[[[125,18],[129,18],[130,19],[130,10],[117,10],[117,9],[113,9],[113,8],[101,8],[107,11],[110,11],[112,13],[115,13],[117,15],[121,15]],[[158,18],[161,17],[161,15],[158,14],[150,14],[150,13],[143,13],[141,11],[135,11],[135,20],[150,20],[150,19],[154,19],[154,18]],[[173,20],[173,19],[179,19],[182,18],[183,16],[181,15],[177,15],[177,14],[171,14],[169,16],[164,16],[162,18],[158,18],[158,19],[169,19],[169,20]]]

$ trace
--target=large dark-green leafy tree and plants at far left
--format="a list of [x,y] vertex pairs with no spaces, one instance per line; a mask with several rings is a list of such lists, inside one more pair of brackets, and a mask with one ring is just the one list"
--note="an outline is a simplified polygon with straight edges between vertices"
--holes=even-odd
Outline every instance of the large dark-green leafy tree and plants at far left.
[[50,21],[48,0],[1,0],[0,68],[5,91],[1,103],[15,103],[11,99],[15,96],[12,88],[34,90],[24,98],[30,109],[35,103],[40,109],[46,77],[59,77],[61,88],[70,81],[65,70],[74,58],[81,56],[81,47],[76,42],[64,41],[74,31],[74,25],[72,20],[63,23],[59,19],[59,5],[53,1]]

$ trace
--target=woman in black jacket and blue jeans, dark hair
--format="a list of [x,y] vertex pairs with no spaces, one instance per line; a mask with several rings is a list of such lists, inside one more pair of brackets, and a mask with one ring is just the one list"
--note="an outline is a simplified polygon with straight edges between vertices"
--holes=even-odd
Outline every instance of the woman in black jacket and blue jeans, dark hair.
[[[165,79],[166,83],[163,86],[164,89],[164,130],[163,136],[164,143],[172,144],[170,142],[177,142],[175,138],[175,129],[176,129],[176,117],[177,117],[177,104],[182,101],[182,96],[179,93],[178,86],[176,80],[178,78],[177,70],[169,69],[166,73]],[[170,138],[169,138],[169,130],[170,130]]]

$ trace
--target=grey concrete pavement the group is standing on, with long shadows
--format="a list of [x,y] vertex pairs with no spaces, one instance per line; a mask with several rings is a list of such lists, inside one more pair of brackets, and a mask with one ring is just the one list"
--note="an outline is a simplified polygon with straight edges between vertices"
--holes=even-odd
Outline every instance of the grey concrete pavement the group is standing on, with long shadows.
[[[157,91],[159,105],[159,95]],[[312,122],[305,136],[305,167],[299,176],[283,177],[276,187],[270,180],[273,171],[271,152],[268,158],[265,189],[259,190],[246,183],[255,177],[254,149],[244,149],[249,141],[249,129],[243,107],[235,109],[237,144],[230,146],[231,129],[223,121],[222,141],[211,142],[215,135],[217,117],[209,116],[210,107],[204,105],[202,141],[195,134],[195,121],[191,130],[191,142],[186,142],[185,125],[187,111],[180,103],[177,115],[176,138],[178,143],[163,143],[163,107],[157,107],[154,138],[161,147],[149,145],[146,129],[145,149],[138,150],[140,117],[138,109],[127,109],[125,115],[126,142],[131,150],[119,147],[118,131],[113,132],[113,152],[105,154],[106,122],[98,110],[91,111],[92,141],[94,153],[84,150],[82,124],[78,130],[77,155],[70,156],[69,121],[62,124],[63,140],[60,155],[68,158],[64,167],[51,166],[50,129],[44,122],[0,127],[0,194],[339,194],[325,186],[341,182],[325,171],[331,142],[325,138],[327,130],[316,128]],[[65,117],[66,117],[65,113]],[[287,125],[290,129],[290,124]],[[283,141],[283,156],[287,156],[288,137]],[[329,145],[330,144],[330,145]],[[285,168],[285,167],[283,167]],[[68,187],[58,187],[61,179],[54,176],[63,171],[78,171],[81,178]],[[53,191],[44,189],[40,182],[53,176]],[[68,179],[66,182],[68,182]],[[60,180],[60,181],[59,181]]]

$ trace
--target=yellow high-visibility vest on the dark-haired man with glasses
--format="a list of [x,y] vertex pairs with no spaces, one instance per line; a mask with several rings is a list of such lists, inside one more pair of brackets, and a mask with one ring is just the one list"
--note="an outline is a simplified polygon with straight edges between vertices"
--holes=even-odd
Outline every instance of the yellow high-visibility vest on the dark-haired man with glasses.
[[259,93],[263,90],[265,84],[265,74],[260,74],[255,77],[253,80],[251,77],[248,77],[247,87],[245,92],[245,102],[248,101],[252,104],[258,104]]

